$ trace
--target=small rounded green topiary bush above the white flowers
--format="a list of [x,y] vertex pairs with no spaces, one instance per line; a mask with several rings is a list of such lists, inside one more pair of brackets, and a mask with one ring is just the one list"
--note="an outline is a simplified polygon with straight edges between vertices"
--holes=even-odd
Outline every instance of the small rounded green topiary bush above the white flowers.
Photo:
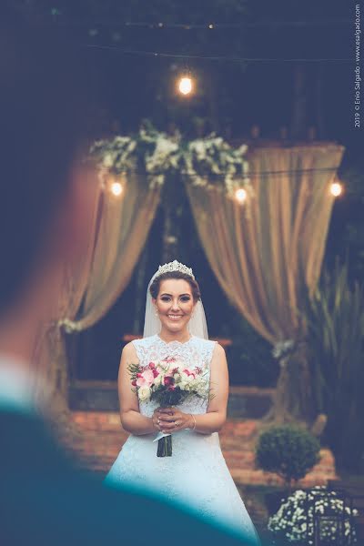
[[301,427],[280,425],[263,432],[256,448],[258,468],[275,472],[288,486],[319,462],[319,440]]

